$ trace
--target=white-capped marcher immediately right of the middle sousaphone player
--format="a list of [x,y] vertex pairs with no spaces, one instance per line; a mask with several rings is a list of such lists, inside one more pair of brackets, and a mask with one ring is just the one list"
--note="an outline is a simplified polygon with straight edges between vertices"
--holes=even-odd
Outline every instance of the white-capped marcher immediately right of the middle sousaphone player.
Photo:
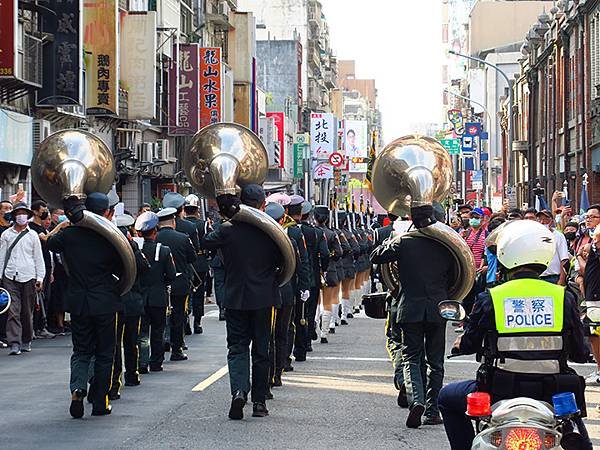
[[298,225],[302,220],[302,204],[304,197],[301,195],[290,196],[290,204],[288,206],[288,214],[293,219],[286,227],[288,236],[293,239],[298,246],[298,254],[300,257],[300,266],[297,267],[296,286],[294,287],[294,311],[292,313],[292,323],[289,329],[289,355],[288,369],[291,367],[292,350],[296,361],[306,361],[306,347],[308,342],[308,327],[306,319],[305,303],[310,298],[310,287],[312,284],[312,262],[309,259],[306,250],[306,242],[304,234]]

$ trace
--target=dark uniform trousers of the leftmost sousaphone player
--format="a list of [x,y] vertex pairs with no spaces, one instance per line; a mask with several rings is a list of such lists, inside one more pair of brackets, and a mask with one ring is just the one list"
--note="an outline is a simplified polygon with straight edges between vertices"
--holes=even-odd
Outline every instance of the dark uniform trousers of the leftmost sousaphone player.
[[[96,408],[102,408],[108,402],[113,357],[115,352],[116,314],[71,315],[71,355],[70,389],[90,393],[90,400]],[[93,364],[93,381],[88,390],[90,362]]]

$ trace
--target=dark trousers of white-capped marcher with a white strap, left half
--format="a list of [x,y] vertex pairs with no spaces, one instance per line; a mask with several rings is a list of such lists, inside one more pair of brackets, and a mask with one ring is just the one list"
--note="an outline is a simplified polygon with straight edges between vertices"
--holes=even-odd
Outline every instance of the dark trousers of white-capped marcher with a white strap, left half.
[[145,306],[140,326],[140,367],[160,367],[165,360],[166,306]]

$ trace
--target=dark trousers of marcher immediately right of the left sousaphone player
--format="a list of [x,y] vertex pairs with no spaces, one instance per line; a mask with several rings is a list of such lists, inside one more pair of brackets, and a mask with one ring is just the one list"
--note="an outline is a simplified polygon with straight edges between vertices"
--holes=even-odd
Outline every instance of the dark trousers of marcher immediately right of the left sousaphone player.
[[[138,337],[140,332],[140,316],[126,316],[117,313],[117,338],[115,342],[115,361],[113,364],[111,390],[121,389],[121,374],[125,361],[125,382],[139,381],[138,372]],[[123,357],[124,356],[124,357]]]

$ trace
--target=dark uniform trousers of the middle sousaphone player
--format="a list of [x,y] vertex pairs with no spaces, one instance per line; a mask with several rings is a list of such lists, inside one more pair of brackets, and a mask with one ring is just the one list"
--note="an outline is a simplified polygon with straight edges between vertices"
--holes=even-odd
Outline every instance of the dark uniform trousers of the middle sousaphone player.
[[[269,390],[269,340],[273,308],[226,309],[227,365],[231,393],[250,392],[252,355],[252,401],[264,403]],[[250,351],[252,344],[252,351]]]

